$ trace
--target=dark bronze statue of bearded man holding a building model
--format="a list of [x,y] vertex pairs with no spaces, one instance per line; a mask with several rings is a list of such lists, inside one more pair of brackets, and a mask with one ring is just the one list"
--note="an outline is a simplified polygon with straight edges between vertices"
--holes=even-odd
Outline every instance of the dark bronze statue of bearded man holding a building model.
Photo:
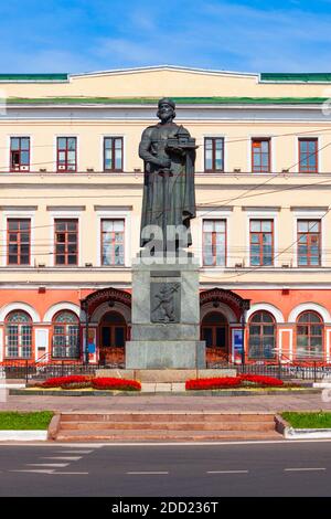
[[158,106],[160,123],[146,128],[139,146],[139,157],[145,161],[140,245],[145,246],[152,240],[148,233],[142,235],[143,229],[158,225],[162,230],[166,251],[166,244],[170,240],[170,225],[184,226],[188,242],[185,245],[192,244],[190,220],[195,218],[196,146],[190,133],[173,123],[174,102],[163,98],[159,100]]

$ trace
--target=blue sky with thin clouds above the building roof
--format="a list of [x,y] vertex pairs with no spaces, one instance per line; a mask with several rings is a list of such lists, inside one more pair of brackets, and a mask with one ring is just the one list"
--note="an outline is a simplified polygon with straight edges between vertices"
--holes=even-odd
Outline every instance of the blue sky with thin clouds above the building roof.
[[331,72],[331,0],[11,0],[0,72]]

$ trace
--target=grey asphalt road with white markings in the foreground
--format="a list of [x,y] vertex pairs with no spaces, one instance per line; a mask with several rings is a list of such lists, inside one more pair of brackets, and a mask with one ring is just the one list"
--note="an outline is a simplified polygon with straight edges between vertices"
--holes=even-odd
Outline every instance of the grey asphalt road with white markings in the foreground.
[[331,442],[1,445],[0,496],[331,496]]

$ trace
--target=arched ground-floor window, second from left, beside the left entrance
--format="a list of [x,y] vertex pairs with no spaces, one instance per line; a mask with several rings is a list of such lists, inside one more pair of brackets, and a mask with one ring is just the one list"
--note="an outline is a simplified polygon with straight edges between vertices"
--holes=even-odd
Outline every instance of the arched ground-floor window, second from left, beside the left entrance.
[[79,357],[79,319],[72,311],[58,311],[53,318],[52,357]]

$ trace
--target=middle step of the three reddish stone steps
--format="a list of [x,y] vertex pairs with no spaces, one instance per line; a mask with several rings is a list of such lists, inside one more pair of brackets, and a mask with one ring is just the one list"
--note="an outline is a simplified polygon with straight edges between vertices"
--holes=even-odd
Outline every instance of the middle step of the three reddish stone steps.
[[61,432],[63,431],[97,431],[99,428],[107,431],[131,430],[131,431],[275,431],[275,422],[61,422]]

